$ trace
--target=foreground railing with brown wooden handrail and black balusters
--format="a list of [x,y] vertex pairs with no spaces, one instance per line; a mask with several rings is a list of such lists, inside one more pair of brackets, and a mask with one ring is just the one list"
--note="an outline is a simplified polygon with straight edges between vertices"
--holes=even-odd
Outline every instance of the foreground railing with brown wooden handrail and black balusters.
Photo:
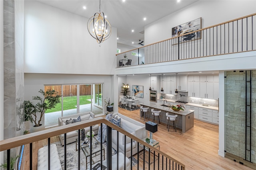
[[[13,149],[13,148],[16,148],[16,147],[21,147],[22,145],[30,144],[30,167],[26,167],[26,169],[32,170],[32,158],[33,158],[33,156],[32,156],[32,143],[40,141],[42,139],[48,139],[48,153],[49,153],[50,137],[55,137],[55,136],[58,136],[58,135],[61,135],[61,134],[66,134],[68,132],[76,131],[78,129],[80,130],[84,127],[90,127],[91,130],[92,130],[93,125],[96,125],[96,124],[102,125],[102,123],[105,123],[107,125],[107,127],[108,127],[107,128],[107,134],[110,134],[110,135],[107,135],[107,164],[108,164],[107,169],[111,169],[111,165],[112,165],[112,159],[111,159],[111,148],[112,148],[111,130],[115,129],[120,134],[125,135],[125,137],[130,137],[131,141],[134,140],[138,144],[139,143],[142,144],[144,146],[144,150],[145,150],[145,147],[147,147],[149,149],[149,152],[151,151],[151,152],[154,153],[154,156],[155,155],[158,156],[158,160],[154,161],[154,169],[163,169],[164,167],[167,168],[169,166],[169,167],[174,167],[175,169],[185,170],[185,165],[182,164],[180,161],[178,161],[176,158],[174,158],[174,155],[170,156],[168,154],[165,154],[161,150],[158,150],[155,147],[149,145],[148,143],[142,141],[138,137],[135,137],[134,135],[131,135],[127,131],[124,131],[122,128],[114,125],[110,121],[107,121],[103,117],[96,117],[94,119],[89,119],[89,120],[78,122],[78,123],[72,123],[72,124],[69,124],[69,125],[61,126],[61,127],[54,127],[54,128],[46,129],[46,130],[43,130],[43,131],[38,131],[38,132],[34,132],[34,133],[30,133],[30,134],[26,134],[26,135],[22,135],[22,136],[18,136],[18,137],[13,137],[13,138],[10,138],[10,139],[5,139],[5,140],[0,141],[0,151],[6,151],[7,150],[7,165],[8,165],[7,169],[10,170],[10,149]],[[80,134],[80,133],[78,133],[78,134]],[[80,135],[78,135],[78,139],[80,139]],[[65,145],[64,145],[64,152],[66,152],[66,142],[65,142]],[[6,152],[4,152],[4,153],[6,153]],[[78,151],[78,157],[80,156],[79,153],[80,153],[80,147],[79,147],[79,151]],[[136,154],[134,154],[134,155],[136,155]],[[143,167],[145,168],[146,167],[145,160],[144,160],[145,157],[143,159],[139,159],[139,152],[137,153],[137,156],[138,156],[137,157],[138,162],[139,161],[143,162]],[[150,156],[148,156],[148,157],[149,157],[149,160],[150,160]],[[65,153],[65,160],[66,160],[66,153]],[[90,160],[92,160],[91,156],[90,156]],[[101,156],[100,161],[102,161],[102,156]],[[48,162],[50,162],[50,154],[48,154]],[[65,162],[65,168],[64,169],[66,169],[66,167],[67,167],[66,161],[64,161],[64,162]],[[78,159],[78,164],[79,163],[80,163],[80,157]],[[132,167],[132,162],[130,162],[130,166]],[[139,163],[137,164],[137,166],[138,166],[138,169],[139,169]],[[152,165],[148,164],[148,166],[151,167]],[[92,167],[92,161],[90,161],[90,167]],[[50,164],[48,164],[48,169],[50,170]],[[80,164],[78,165],[78,169],[80,169]]]

